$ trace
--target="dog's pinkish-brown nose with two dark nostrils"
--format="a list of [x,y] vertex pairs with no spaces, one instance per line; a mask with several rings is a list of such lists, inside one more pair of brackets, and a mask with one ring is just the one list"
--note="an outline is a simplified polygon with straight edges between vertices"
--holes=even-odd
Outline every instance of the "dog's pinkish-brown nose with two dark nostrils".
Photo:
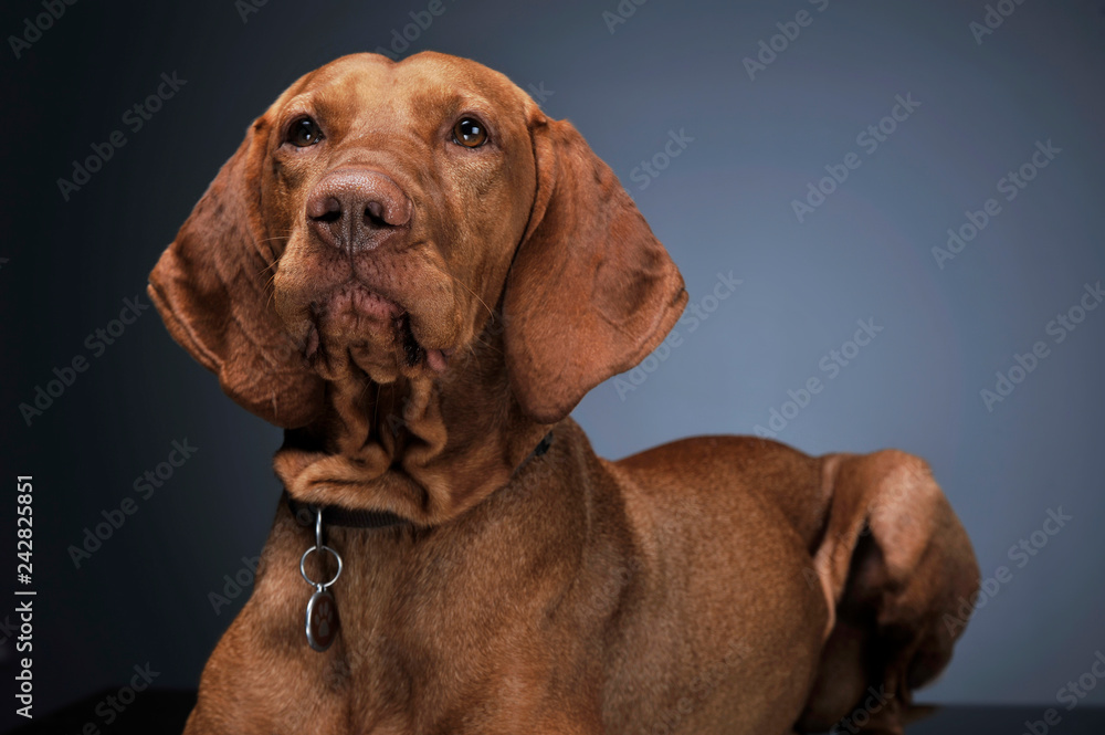
[[391,178],[370,169],[338,169],[307,198],[307,223],[323,242],[357,252],[372,250],[404,230],[411,200]]

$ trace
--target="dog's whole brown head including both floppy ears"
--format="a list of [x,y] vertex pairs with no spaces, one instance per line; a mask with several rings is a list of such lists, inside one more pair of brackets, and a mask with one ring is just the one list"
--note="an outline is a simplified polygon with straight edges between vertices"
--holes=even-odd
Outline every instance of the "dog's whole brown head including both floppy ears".
[[498,416],[554,423],[654,349],[686,303],[570,124],[435,53],[346,56],[293,84],[166,250],[150,295],[232,398],[284,428],[381,387],[424,412],[460,385]]

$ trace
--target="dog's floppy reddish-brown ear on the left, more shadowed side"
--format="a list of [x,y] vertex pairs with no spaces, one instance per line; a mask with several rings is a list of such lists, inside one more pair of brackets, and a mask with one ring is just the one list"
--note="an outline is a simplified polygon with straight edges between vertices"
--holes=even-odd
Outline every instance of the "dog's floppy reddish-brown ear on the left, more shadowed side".
[[269,284],[281,251],[259,211],[264,125],[260,118],[223,165],[161,254],[147,291],[172,337],[219,376],[227,395],[291,429],[322,410],[324,385],[273,309]]

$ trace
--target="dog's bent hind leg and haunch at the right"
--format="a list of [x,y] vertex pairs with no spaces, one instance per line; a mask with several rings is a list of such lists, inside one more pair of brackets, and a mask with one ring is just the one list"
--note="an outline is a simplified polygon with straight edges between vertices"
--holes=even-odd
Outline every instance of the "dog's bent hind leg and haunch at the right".
[[947,665],[967,624],[978,563],[923,460],[886,450],[822,462],[830,503],[809,578],[833,615],[798,728],[902,733],[913,690]]

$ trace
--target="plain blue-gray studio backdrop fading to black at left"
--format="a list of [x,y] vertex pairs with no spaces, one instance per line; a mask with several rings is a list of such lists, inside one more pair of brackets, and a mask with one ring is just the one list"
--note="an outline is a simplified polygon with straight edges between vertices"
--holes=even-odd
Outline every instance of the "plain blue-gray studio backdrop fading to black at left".
[[[927,458],[983,576],[1011,569],[925,699],[1054,705],[1105,649],[1105,309],[1062,344],[1045,332],[1085,283],[1105,279],[1105,12],[1024,0],[979,44],[969,24],[983,2],[823,4],[649,0],[611,33],[603,12],[615,0],[445,0],[410,51],[470,56],[550,91],[545,108],[572,119],[619,174],[692,303],[713,305],[704,297],[718,273],[743,281],[694,332],[676,327],[665,359],[630,376],[635,390],[610,382],[585,399],[576,417],[599,453],[751,432],[788,390],[821,377],[779,439],[812,453],[898,447]],[[222,396],[152,308],[99,357],[86,336],[125,298],[148,304],[147,273],[255,115],[299,74],[390,43],[425,7],[269,0],[243,22],[230,0],[84,1],[22,57],[0,50],[11,493],[0,513],[11,539],[10,485],[33,474],[36,713],[146,662],[158,685],[193,686],[245,598],[215,613],[209,594],[260,550],[280,493],[270,469],[280,432]],[[800,10],[812,22],[750,80],[743,60]],[[7,3],[0,31],[22,33],[40,12]],[[130,132],[123,113],[162,72],[187,84]],[[869,156],[856,136],[896,95],[920,106]],[[56,180],[115,129],[127,145],[63,201]],[[634,169],[681,130],[693,140],[642,189]],[[997,182],[1038,140],[1062,153],[1007,202]],[[850,151],[860,168],[799,223],[791,201]],[[938,267],[932,249],[991,197],[1001,213]],[[883,330],[829,379],[820,360],[869,318]],[[980,390],[1038,340],[1050,356],[988,411]],[[28,427],[19,403],[75,356],[88,369]],[[138,497],[135,479],[183,439],[196,455]],[[74,568],[67,547],[127,496],[137,513]],[[1018,567],[1010,547],[1060,507],[1073,519]],[[0,638],[10,702],[12,641]],[[1090,699],[1105,702],[1105,686]]]

